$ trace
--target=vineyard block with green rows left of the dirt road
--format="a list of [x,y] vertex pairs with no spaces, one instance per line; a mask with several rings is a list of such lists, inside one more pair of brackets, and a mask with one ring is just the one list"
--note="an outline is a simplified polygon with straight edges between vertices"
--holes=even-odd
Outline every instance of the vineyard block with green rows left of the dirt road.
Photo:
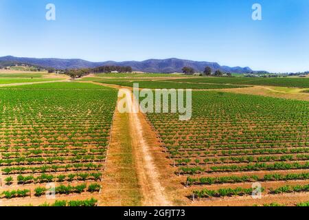
[[82,83],[42,86],[0,89],[1,205],[43,204],[48,183],[56,187],[57,203],[95,205],[117,91]]

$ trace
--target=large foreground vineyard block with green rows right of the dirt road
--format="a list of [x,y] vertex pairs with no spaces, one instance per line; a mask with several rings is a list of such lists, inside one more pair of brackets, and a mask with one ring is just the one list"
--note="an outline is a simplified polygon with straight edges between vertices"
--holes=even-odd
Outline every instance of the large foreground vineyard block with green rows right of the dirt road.
[[225,205],[229,197],[244,197],[242,205],[261,203],[249,196],[254,182],[266,198],[297,192],[308,199],[308,102],[195,91],[192,103],[188,122],[171,113],[147,115],[185,187],[179,190],[183,199],[211,205],[224,198],[215,204]]

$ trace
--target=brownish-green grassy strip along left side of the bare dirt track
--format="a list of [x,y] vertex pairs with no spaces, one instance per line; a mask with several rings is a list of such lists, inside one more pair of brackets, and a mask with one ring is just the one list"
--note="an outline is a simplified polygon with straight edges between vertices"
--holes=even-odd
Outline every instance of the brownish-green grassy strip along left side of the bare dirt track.
[[128,114],[115,111],[100,206],[141,206]]

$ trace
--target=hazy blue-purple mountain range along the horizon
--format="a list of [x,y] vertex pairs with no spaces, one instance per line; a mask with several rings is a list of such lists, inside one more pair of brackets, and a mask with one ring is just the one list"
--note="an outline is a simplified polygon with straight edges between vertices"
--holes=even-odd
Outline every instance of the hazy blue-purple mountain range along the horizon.
[[[59,59],[59,58],[21,58],[15,56],[3,56],[0,57],[1,63],[23,63],[27,65],[36,65],[45,68],[56,69],[79,69],[79,68],[93,68],[104,65],[117,65],[117,66],[130,66],[133,71],[138,72],[151,72],[151,73],[174,73],[182,72],[183,67],[192,67],[197,72],[203,72],[205,67],[209,66],[214,71],[221,70],[222,72],[231,73],[251,73],[255,72],[249,67],[227,67],[221,66],[218,63],[201,62],[201,61],[188,61],[178,58],[168,59],[150,59],[147,61],[105,61],[105,62],[90,62],[81,59]],[[259,71],[261,72],[261,71]]]

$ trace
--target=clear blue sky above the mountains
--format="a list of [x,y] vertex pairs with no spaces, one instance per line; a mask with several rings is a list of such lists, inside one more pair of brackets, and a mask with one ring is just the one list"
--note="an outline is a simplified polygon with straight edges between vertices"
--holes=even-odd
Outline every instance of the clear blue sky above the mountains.
[[[56,21],[45,19],[47,3]],[[253,3],[262,21],[253,21]],[[308,0],[0,0],[0,56],[309,70]]]

